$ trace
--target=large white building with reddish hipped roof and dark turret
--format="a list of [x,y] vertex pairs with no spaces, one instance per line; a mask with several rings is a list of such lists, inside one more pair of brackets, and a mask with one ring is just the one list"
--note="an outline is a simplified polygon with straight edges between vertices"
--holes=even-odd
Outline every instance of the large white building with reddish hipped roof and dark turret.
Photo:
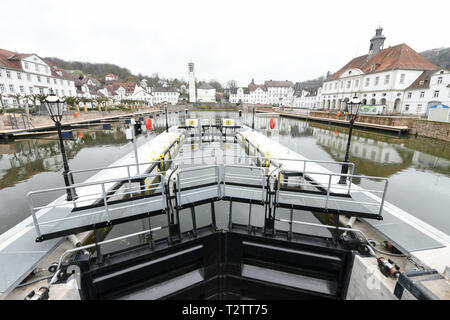
[[383,49],[381,28],[370,40],[369,53],[352,59],[322,85],[321,107],[343,110],[355,94],[366,105],[381,105],[388,113],[402,108],[405,89],[425,70],[437,66],[402,43]]

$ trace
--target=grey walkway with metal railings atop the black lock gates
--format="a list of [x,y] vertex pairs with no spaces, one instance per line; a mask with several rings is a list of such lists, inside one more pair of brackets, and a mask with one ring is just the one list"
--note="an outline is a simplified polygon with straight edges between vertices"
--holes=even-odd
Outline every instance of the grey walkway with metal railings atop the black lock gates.
[[[132,165],[134,164],[117,167],[129,167]],[[275,192],[275,204],[282,204],[289,198],[293,199],[294,202],[298,202],[299,200],[300,202],[301,200],[320,200],[323,204],[322,208],[327,210],[330,208],[330,202],[332,201],[334,207],[338,206],[338,209],[339,204],[357,204],[366,209],[375,208],[373,210],[366,210],[369,211],[368,214],[378,216],[382,214],[389,181],[387,178],[316,171],[285,171],[274,166],[271,167],[270,172],[267,169],[267,167],[259,167],[256,165],[229,164],[216,164],[187,169],[175,168],[176,188],[175,190],[172,189],[172,191],[170,187],[167,188],[165,185],[168,183],[164,178],[167,175],[150,173],[140,176],[128,175],[125,178],[74,184],[70,187],[32,191],[27,194],[27,198],[38,238],[42,235],[40,227],[43,225],[51,226],[63,221],[87,217],[91,217],[91,221],[94,218],[97,219],[96,223],[110,223],[113,220],[112,214],[117,214],[117,212],[122,213],[124,210],[130,208],[133,210],[138,207],[142,208],[143,206],[147,206],[145,207],[147,210],[150,204],[152,205],[152,209],[156,207],[155,210],[168,210],[167,196],[173,196],[173,193],[176,194],[178,205],[185,205],[190,201],[221,199],[232,194],[236,195],[236,189],[243,191],[250,190],[252,192],[260,191],[261,201],[264,203],[267,192],[272,191]],[[291,176],[287,176],[286,173],[291,174]],[[294,175],[292,176],[292,174]],[[305,177],[309,177],[309,179],[305,179]],[[345,177],[350,182],[340,184],[340,177]],[[269,178],[275,179],[276,183],[273,184],[271,182],[267,185]],[[361,189],[351,183],[352,179],[356,178],[381,180],[384,182],[383,189]],[[146,181],[145,184],[142,183],[144,180]],[[139,182],[138,186],[133,185],[133,183],[137,182]],[[37,195],[49,192],[62,192],[66,191],[67,188],[77,190],[78,196],[72,201],[56,201],[44,206],[34,206],[33,198]],[[166,188],[169,190],[169,195],[166,194]],[[311,194],[311,192],[305,191],[315,192]],[[381,201],[364,196],[365,192],[380,194]],[[358,197],[355,198],[356,193],[358,193]],[[161,197],[154,197],[155,195],[161,195]],[[255,199],[255,195],[259,197],[259,195],[253,193],[251,195],[253,199]],[[141,201],[143,196],[145,199]],[[240,197],[238,196],[237,198]],[[116,200],[121,200],[121,202],[117,202]],[[134,200],[140,201],[134,202]],[[49,211],[54,209],[62,211],[60,213],[56,212],[53,218],[47,220],[45,220],[45,214],[42,214],[43,212],[40,213],[40,218],[37,216],[37,212],[40,210]],[[145,210],[142,209],[141,211],[143,212]],[[132,215],[135,214],[135,212],[132,213]],[[70,225],[76,227],[75,222]]]

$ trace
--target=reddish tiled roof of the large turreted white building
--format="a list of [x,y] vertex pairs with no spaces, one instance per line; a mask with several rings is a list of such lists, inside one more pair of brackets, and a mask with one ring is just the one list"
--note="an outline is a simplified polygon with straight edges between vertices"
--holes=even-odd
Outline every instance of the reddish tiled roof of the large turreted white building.
[[359,69],[369,74],[394,69],[437,70],[439,67],[422,57],[407,44],[402,43],[380,50],[370,59],[367,54],[356,57],[325,81],[335,80],[349,69]]

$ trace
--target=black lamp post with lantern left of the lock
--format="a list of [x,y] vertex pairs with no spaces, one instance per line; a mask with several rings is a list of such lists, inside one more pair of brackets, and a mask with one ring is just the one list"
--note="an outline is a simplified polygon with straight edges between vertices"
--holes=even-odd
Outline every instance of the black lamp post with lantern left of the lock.
[[[61,154],[64,165],[63,171],[64,183],[66,187],[70,187],[70,180],[69,180],[70,169],[69,164],[67,163],[66,149],[64,148],[64,142],[61,134],[61,120],[64,108],[66,107],[66,101],[65,99],[58,98],[53,93],[53,90],[50,89],[49,95],[44,100],[44,105],[47,109],[48,114],[50,115],[50,118],[53,120],[53,122],[55,122],[56,130],[58,130],[59,144],[61,147]],[[74,200],[74,198],[76,199],[77,194],[75,193],[75,189],[67,188],[66,191],[67,191],[67,201],[72,201]]]

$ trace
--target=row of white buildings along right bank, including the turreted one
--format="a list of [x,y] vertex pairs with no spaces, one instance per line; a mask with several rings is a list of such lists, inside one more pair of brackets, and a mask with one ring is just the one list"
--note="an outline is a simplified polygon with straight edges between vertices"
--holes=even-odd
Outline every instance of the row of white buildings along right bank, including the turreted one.
[[283,105],[303,109],[345,110],[358,96],[386,114],[424,115],[431,106],[450,105],[450,71],[425,59],[405,43],[384,48],[376,29],[369,52],[327,77],[321,87],[300,88],[290,81],[266,81],[232,88],[230,102]]

